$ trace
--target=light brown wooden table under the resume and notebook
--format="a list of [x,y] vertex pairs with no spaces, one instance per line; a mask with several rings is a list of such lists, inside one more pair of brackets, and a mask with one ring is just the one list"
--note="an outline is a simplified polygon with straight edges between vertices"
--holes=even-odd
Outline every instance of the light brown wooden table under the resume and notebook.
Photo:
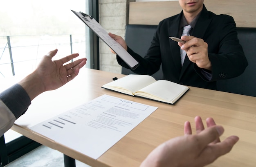
[[[256,98],[238,94],[190,87],[175,105],[127,96],[101,88],[112,78],[124,75],[83,68],[79,76],[63,87],[48,91],[32,101],[27,113],[12,129],[38,143],[92,167],[138,167],[157,145],[183,135],[186,120],[195,132],[194,117],[212,117],[225,128],[221,139],[237,135],[240,140],[229,154],[218,158],[209,167],[256,166]],[[88,102],[103,94],[159,107],[130,133],[97,160],[85,156],[28,129],[37,123]],[[76,138],[74,137],[74,142]]]

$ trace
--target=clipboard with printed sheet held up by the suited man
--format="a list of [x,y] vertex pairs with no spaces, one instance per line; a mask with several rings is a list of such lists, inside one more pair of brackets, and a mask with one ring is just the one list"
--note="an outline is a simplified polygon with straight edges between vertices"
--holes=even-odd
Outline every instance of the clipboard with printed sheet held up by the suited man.
[[110,47],[117,55],[130,66],[131,69],[136,69],[139,62],[135,60],[117,41],[108,35],[108,32],[94,19],[92,16],[71,10],[77,17],[79,17],[108,47]]

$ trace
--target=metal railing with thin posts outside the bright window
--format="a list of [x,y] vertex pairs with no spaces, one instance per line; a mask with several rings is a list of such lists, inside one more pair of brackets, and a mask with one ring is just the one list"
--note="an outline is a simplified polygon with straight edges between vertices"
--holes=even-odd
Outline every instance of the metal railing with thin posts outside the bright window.
[[[58,49],[54,58],[85,54],[85,35],[0,36],[0,78],[31,72],[48,51]],[[8,52],[9,51],[9,52]]]

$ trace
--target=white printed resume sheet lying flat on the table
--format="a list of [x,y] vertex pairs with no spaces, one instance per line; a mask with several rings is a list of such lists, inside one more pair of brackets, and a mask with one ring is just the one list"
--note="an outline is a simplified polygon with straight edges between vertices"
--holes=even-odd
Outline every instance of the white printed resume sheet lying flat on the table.
[[103,95],[30,129],[97,159],[156,109]]

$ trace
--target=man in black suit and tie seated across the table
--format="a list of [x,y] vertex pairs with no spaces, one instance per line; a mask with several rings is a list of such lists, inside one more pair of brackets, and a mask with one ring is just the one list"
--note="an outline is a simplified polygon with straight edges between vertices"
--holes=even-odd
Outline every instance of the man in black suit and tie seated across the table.
[[[207,11],[204,0],[179,0],[179,3],[182,12],[159,23],[144,58],[133,52],[123,38],[109,33],[139,62],[134,72],[152,75],[162,63],[163,79],[207,89],[216,89],[217,80],[242,74],[248,63],[234,19]],[[182,36],[183,27],[188,24],[192,27],[190,36]],[[187,42],[177,43],[169,37]],[[186,51],[183,65],[180,48]],[[129,68],[118,56],[117,61]]]

